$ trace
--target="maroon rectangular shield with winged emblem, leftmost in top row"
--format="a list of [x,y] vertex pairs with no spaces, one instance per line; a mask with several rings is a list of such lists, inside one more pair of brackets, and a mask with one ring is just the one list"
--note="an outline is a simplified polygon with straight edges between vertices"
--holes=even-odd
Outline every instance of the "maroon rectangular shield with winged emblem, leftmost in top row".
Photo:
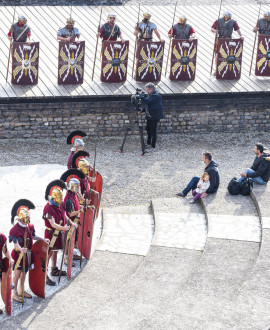
[[36,85],[38,83],[39,42],[14,42],[12,50],[13,85]]

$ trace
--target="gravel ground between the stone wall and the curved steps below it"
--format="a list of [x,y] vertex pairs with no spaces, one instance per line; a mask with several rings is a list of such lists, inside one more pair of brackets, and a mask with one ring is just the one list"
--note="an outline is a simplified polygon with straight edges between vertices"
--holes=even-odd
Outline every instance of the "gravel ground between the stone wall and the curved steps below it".
[[[0,140],[1,166],[30,164],[66,164],[70,146],[63,139]],[[94,141],[86,139],[86,150],[94,150]],[[150,199],[171,197],[194,175],[203,172],[201,154],[213,153],[220,165],[221,188],[233,176],[252,165],[256,142],[270,146],[266,132],[159,135],[157,150],[141,156],[138,136],[129,136],[125,152],[119,152],[122,137],[97,141],[96,168],[103,176],[102,206],[148,204]],[[91,155],[93,163],[93,153]],[[52,178],[54,179],[54,178]]]

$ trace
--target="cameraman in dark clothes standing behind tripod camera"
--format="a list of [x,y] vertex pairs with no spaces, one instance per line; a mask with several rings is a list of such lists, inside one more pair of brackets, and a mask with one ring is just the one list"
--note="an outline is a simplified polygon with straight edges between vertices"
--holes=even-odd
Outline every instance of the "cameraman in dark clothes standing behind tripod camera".
[[147,149],[154,151],[157,141],[157,124],[160,119],[164,118],[162,111],[162,98],[161,95],[156,91],[154,84],[146,84],[145,89],[148,95],[145,95],[144,92],[141,92],[141,96],[143,97],[143,101],[146,104],[145,119],[147,121]]

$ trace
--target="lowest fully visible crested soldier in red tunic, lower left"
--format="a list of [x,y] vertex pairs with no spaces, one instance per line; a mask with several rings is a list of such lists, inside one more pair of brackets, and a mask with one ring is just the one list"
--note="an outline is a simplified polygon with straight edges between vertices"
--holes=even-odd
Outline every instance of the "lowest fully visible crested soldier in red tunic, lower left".
[[[34,263],[34,255],[31,253],[33,240],[46,239],[37,237],[34,225],[30,223],[30,209],[34,209],[35,205],[27,199],[18,200],[11,210],[11,223],[14,224],[14,218],[18,219],[9,232],[9,241],[14,243],[14,249],[11,257],[14,260],[13,265],[13,294],[12,299],[22,303],[22,293],[24,288],[25,273],[31,269]],[[24,291],[24,298],[32,298],[32,295]]]

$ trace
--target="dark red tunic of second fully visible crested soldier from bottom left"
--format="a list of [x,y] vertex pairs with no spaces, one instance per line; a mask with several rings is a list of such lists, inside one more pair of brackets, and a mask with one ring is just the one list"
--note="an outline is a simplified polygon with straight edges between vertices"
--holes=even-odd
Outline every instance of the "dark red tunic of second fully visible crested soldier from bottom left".
[[[52,239],[53,233],[54,233],[54,228],[51,226],[50,221],[48,220],[48,216],[50,215],[51,217],[54,218],[55,223],[57,223],[60,226],[65,225],[65,208],[63,205],[55,206],[50,204],[48,202],[43,210],[43,216],[42,218],[44,219],[45,222],[45,234],[44,238],[48,238],[49,240]],[[58,237],[54,243],[53,249],[62,249],[62,234],[61,231],[58,234]]]

